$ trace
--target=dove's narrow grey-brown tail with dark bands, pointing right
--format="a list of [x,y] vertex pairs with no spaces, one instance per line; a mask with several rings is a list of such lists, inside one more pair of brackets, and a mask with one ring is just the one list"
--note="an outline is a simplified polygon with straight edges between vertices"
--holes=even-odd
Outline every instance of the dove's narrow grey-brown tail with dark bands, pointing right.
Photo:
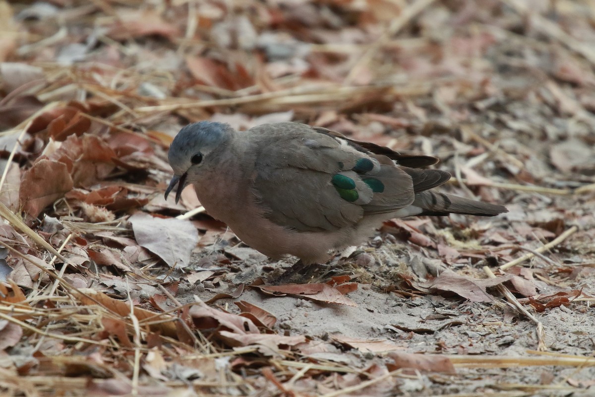
[[493,217],[502,214],[502,212],[508,212],[503,205],[475,201],[431,190],[416,193],[412,205],[421,208],[422,212],[419,215],[466,214]]

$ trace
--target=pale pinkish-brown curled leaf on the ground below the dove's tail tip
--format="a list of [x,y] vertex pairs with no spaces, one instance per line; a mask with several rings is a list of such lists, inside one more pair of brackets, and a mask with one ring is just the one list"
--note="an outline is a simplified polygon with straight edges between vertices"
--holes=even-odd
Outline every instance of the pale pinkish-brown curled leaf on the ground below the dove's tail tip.
[[487,293],[487,287],[502,284],[513,277],[513,274],[507,274],[495,279],[477,280],[461,276],[452,270],[444,270],[434,280],[425,283],[412,282],[412,285],[423,292],[431,292],[432,290],[450,291],[472,302],[491,302],[494,297]]

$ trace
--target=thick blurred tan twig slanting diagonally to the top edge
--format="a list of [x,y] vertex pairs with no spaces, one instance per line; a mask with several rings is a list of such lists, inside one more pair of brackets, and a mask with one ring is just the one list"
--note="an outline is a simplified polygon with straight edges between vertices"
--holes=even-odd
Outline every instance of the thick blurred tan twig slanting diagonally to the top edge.
[[355,80],[362,69],[372,60],[372,58],[374,58],[374,55],[378,52],[378,50],[386,45],[386,43],[389,42],[390,39],[392,39],[392,37],[396,35],[396,33],[399,32],[403,26],[409,23],[409,21],[415,18],[425,8],[429,7],[434,1],[435,0],[417,0],[413,4],[404,8],[401,14],[395,18],[390,26],[384,31],[382,36],[380,36],[380,38],[374,43],[369,45],[364,55],[362,55],[356,64],[353,65],[349,71],[349,74],[347,74],[347,77],[343,81],[343,85],[349,86],[351,83],[353,83],[353,80]]

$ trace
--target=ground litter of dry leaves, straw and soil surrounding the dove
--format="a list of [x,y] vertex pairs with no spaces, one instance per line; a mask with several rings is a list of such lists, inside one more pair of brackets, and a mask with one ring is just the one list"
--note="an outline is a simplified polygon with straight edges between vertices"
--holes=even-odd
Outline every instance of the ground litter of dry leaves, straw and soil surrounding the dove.
[[[2,393],[590,395],[593,8],[533,6],[1,1]],[[510,212],[256,285],[291,258],[162,198],[199,120],[437,154]]]

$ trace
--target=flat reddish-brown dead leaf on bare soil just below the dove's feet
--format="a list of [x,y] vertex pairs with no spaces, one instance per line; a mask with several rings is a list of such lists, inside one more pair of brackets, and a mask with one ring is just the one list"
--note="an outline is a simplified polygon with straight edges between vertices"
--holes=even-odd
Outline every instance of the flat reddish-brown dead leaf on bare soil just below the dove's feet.
[[323,283],[255,286],[270,295],[295,295],[312,301],[357,307],[357,304],[337,289]]

